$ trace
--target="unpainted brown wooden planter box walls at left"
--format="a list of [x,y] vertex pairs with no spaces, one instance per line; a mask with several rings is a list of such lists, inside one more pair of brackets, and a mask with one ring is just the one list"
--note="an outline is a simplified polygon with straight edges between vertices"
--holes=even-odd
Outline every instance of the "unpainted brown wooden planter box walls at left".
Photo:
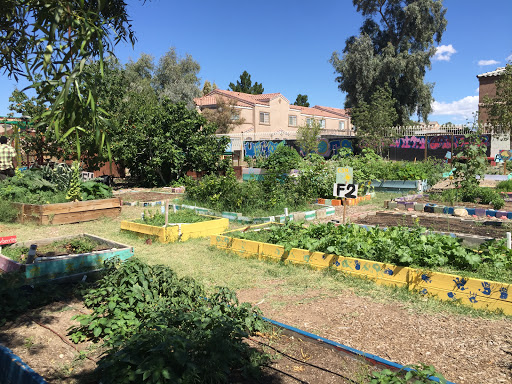
[[13,204],[20,211],[18,216],[20,223],[70,224],[96,220],[100,217],[117,217],[121,213],[122,201],[119,197],[114,197],[44,205]]

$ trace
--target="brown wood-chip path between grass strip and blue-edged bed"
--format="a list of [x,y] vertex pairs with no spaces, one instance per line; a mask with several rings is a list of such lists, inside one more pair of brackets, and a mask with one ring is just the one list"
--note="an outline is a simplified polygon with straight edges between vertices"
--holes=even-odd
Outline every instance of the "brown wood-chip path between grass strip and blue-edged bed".
[[510,320],[417,313],[348,290],[290,297],[278,281],[238,295],[273,320],[403,365],[432,364],[455,383],[512,382]]

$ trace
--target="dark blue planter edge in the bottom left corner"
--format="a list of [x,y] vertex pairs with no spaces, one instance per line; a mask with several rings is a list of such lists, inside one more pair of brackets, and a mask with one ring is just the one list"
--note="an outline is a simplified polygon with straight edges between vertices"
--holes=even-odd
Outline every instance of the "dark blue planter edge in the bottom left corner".
[[[0,382],[2,383],[47,384],[46,380],[2,344],[0,344],[0,368],[2,368],[0,369],[0,373],[2,373]],[[13,381],[14,379],[16,381]]]

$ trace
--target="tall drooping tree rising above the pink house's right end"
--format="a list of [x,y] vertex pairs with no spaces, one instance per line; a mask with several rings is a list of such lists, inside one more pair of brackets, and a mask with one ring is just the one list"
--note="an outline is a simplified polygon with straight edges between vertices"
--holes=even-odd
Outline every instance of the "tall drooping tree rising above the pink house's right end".
[[417,113],[427,121],[432,111],[433,84],[424,83],[426,68],[446,29],[442,0],[353,0],[365,17],[359,36],[345,42],[343,56],[337,52],[331,64],[336,81],[347,93],[345,107],[367,104],[377,86],[388,83],[404,124]]

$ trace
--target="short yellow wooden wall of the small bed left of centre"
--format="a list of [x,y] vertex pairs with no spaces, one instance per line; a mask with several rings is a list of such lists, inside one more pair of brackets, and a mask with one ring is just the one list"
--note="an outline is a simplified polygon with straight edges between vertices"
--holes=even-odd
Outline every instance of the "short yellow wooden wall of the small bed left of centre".
[[[206,216],[206,215],[204,215]],[[218,235],[229,227],[229,219],[214,216],[213,220],[190,224],[169,223],[167,227],[134,223],[133,221],[121,221],[121,229],[135,232],[139,237],[156,237],[161,243],[172,243],[178,240],[185,241],[196,237],[208,237]]]

